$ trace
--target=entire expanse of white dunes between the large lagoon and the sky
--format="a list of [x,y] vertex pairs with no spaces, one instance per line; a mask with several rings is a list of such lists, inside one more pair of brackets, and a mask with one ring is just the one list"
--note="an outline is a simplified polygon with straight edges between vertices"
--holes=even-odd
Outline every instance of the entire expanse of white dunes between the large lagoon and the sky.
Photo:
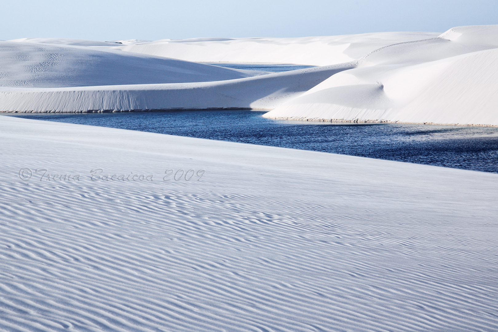
[[[442,34],[0,42],[0,111],[260,109],[277,119],[498,125],[498,25]],[[284,73],[202,62],[294,63]]]

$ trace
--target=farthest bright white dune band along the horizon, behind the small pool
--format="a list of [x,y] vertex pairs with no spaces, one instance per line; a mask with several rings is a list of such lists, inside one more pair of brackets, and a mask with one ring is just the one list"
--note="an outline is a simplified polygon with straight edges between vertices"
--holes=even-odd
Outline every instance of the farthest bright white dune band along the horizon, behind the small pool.
[[[383,46],[437,37],[435,32],[377,32],[301,38],[190,38],[156,41],[87,42],[122,50],[194,62],[261,62],[328,66],[358,60]],[[18,39],[19,41],[24,41]],[[81,40],[25,38],[27,42],[83,45]]]

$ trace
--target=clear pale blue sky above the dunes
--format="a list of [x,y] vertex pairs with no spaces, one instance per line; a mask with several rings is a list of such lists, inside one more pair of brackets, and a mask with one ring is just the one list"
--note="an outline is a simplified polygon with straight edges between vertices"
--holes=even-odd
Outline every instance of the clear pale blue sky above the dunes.
[[498,24],[498,0],[2,1],[0,40],[301,37]]

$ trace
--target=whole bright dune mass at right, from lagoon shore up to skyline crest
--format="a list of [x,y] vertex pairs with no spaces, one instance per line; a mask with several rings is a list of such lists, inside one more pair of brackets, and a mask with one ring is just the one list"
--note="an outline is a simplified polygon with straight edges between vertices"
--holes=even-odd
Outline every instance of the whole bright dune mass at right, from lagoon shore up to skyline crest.
[[498,125],[498,26],[384,47],[272,118]]

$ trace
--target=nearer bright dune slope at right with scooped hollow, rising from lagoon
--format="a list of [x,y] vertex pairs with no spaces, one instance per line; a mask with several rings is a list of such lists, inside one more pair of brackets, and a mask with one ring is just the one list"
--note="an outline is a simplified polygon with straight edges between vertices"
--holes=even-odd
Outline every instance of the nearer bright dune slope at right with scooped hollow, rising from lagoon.
[[263,116],[496,126],[497,83],[497,49],[418,65],[355,68]]

